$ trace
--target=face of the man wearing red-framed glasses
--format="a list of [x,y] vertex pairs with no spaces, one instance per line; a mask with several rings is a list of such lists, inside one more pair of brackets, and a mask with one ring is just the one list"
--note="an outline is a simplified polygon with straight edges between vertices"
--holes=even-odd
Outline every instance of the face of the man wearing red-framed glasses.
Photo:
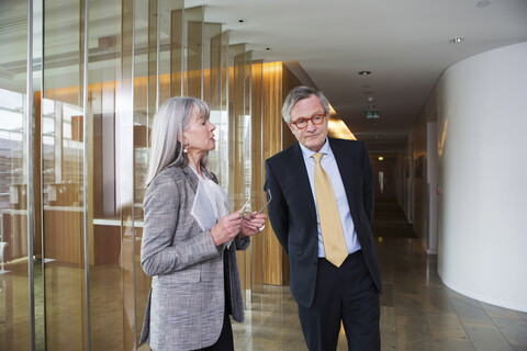
[[[299,143],[315,152],[324,146],[327,136],[327,117],[324,117],[324,122],[319,125],[309,120],[316,115],[325,115],[324,106],[316,95],[311,95],[294,104],[291,110],[291,123],[288,123]],[[301,118],[309,120],[305,128],[294,125],[294,122]]]

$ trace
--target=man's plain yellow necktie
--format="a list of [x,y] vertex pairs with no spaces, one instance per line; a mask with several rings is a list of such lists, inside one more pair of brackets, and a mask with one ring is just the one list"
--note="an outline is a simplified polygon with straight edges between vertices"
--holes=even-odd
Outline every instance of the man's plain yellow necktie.
[[338,214],[337,200],[335,199],[332,182],[321,166],[323,155],[322,152],[313,155],[316,163],[316,206],[318,208],[318,219],[321,220],[322,240],[324,241],[326,260],[336,267],[340,267],[348,256],[348,250],[346,248],[346,241],[344,241],[340,215]]

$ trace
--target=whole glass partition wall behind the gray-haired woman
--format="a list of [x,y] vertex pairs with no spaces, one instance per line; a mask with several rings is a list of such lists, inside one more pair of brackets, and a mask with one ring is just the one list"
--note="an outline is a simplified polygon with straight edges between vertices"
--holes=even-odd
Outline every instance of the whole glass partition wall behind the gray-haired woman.
[[[249,195],[261,202],[251,55],[204,22],[205,10],[182,0],[0,3],[0,350],[138,348],[149,131],[166,99],[210,104],[211,169],[235,208]],[[249,293],[250,250],[238,256]]]

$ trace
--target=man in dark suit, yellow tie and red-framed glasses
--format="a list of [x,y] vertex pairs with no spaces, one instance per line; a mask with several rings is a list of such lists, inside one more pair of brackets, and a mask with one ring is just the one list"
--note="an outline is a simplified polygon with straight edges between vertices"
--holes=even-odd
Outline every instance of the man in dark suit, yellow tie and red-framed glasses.
[[289,254],[309,349],[336,350],[343,321],[349,350],[380,350],[371,163],[361,141],[327,137],[328,114],[315,89],[285,99],[282,116],[299,143],[266,160],[269,219]]

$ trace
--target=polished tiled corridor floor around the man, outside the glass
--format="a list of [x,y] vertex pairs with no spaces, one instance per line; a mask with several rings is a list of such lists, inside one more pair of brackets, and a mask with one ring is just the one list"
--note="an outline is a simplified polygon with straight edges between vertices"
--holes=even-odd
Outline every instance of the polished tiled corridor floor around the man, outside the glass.
[[[446,287],[436,257],[417,239],[377,238],[384,293],[382,350],[527,350],[527,313],[505,309]],[[244,324],[233,322],[236,350],[307,350],[289,286],[254,294]],[[340,332],[338,350],[347,350]]]

